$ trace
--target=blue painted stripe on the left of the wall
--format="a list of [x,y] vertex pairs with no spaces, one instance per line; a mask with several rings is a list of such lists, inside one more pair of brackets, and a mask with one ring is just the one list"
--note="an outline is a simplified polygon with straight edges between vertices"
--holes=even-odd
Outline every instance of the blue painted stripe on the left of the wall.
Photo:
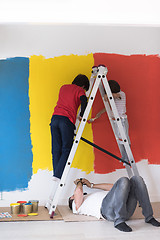
[[27,188],[32,176],[28,78],[28,58],[0,60],[0,191]]

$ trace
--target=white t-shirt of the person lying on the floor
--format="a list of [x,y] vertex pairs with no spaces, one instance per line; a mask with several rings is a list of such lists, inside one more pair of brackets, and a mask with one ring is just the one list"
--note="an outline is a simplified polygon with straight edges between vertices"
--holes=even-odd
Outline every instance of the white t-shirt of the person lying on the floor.
[[101,218],[101,205],[104,197],[107,195],[108,191],[98,191],[95,193],[90,193],[84,196],[82,205],[76,210],[75,202],[72,203],[72,211],[75,214],[82,214],[87,216],[93,216],[98,219]]

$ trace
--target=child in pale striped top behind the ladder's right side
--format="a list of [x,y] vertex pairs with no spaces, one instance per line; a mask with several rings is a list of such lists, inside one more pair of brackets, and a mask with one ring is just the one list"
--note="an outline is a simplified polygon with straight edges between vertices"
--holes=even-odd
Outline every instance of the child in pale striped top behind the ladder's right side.
[[[126,114],[126,95],[123,91],[121,91],[119,83],[116,82],[115,80],[109,80],[108,84],[110,86],[110,89],[111,89],[111,92],[112,92],[112,95],[113,95],[113,98],[115,101],[115,105],[116,105],[119,117],[121,119],[122,126],[124,127],[124,132],[125,132],[126,138],[128,140],[128,143],[131,144],[129,134],[128,134],[129,124],[128,124],[128,119],[127,119],[127,114]],[[107,94],[104,95],[104,100],[108,101]],[[98,119],[105,112],[106,112],[106,109],[103,108],[100,112],[98,112],[96,114],[95,118],[91,118],[90,120],[88,120],[88,122],[92,123],[93,121]],[[121,135],[117,128],[116,120],[114,118],[112,109],[111,109],[111,121],[113,121],[115,135],[118,139],[118,145],[120,148],[122,159],[129,162],[128,155],[126,153],[125,147],[124,147],[122,139],[121,139]]]

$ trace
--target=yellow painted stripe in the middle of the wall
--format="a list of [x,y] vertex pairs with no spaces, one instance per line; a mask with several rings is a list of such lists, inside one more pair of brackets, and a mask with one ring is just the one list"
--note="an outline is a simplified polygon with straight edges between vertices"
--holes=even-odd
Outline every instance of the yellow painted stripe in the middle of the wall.
[[[31,56],[29,74],[30,131],[33,151],[33,173],[52,170],[50,119],[58,99],[59,89],[69,84],[79,73],[91,76],[93,54],[70,55],[45,59]],[[91,125],[86,124],[83,136],[93,141]],[[93,171],[94,153],[80,143],[72,167],[87,173]]]

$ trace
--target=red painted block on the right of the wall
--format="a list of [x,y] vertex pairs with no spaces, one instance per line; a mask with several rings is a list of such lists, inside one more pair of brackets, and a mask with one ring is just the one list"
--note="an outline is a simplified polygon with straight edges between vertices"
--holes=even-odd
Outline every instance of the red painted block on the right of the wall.
[[[135,161],[148,159],[150,164],[160,164],[159,56],[96,53],[94,60],[95,65],[107,66],[107,79],[119,82],[121,90],[126,93],[129,135]],[[97,95],[93,117],[103,106],[100,95]],[[94,142],[120,156],[106,113],[92,124],[92,128]],[[96,173],[109,173],[123,167],[110,156],[98,150],[94,152]]]

